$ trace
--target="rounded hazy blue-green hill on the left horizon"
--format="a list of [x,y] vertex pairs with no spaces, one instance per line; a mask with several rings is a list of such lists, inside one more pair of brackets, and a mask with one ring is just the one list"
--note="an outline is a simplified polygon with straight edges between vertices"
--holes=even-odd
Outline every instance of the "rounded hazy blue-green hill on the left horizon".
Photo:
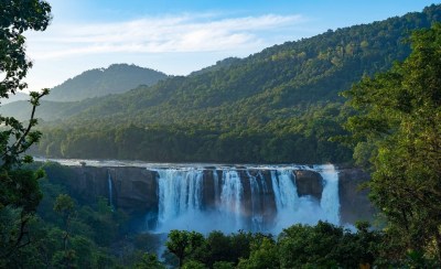
[[128,64],[112,64],[69,78],[52,88],[46,100],[76,101],[90,97],[120,94],[139,85],[153,85],[166,78],[164,73]]

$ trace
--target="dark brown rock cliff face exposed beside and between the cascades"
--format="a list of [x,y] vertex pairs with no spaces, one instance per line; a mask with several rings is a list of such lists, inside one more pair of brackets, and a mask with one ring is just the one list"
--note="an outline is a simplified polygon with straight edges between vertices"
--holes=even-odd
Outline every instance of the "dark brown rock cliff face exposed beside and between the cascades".
[[[158,172],[146,168],[130,166],[65,166],[69,176],[67,184],[69,191],[77,197],[95,201],[98,196],[111,197],[111,204],[130,215],[146,215],[147,212],[155,215],[159,211]],[[64,171],[64,173],[66,173]],[[262,176],[265,187],[259,191],[259,208],[263,218],[275,216],[275,193],[271,186],[271,174],[268,170],[240,169],[237,170],[243,183],[243,204],[245,214],[251,214],[252,205],[250,176]],[[58,172],[60,173],[60,172]],[[57,172],[49,171],[51,177],[60,176]],[[216,207],[215,192],[220,192],[222,170],[215,168],[203,171],[202,176],[202,208],[211,211]],[[215,180],[217,177],[217,180]],[[323,179],[320,173],[311,170],[293,171],[299,197],[309,196],[320,202],[323,193]],[[338,171],[338,196],[342,223],[354,223],[357,219],[370,219],[374,208],[367,198],[367,191],[359,191],[358,185],[368,181],[368,174],[356,169],[342,169]],[[111,187],[109,186],[111,184]],[[216,185],[217,184],[217,185]],[[216,185],[216,186],[215,186]],[[111,192],[111,193],[110,193]],[[256,195],[256,193],[255,193]]]

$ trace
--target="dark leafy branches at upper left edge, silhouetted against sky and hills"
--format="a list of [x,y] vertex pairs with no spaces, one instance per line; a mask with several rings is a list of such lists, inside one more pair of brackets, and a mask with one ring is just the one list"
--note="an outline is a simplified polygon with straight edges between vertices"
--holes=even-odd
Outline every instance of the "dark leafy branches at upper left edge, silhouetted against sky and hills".
[[[51,6],[41,0],[2,1],[0,10],[0,97],[9,98],[11,94],[28,87],[22,79],[32,67],[32,62],[25,56],[26,30],[44,31],[51,20]],[[49,94],[49,89],[31,93],[32,114],[29,123],[24,126],[12,117],[0,117],[0,123],[7,130],[0,132],[1,159],[3,166],[10,168],[22,159],[20,154],[36,142],[41,133],[32,131],[37,121],[34,119],[35,107],[40,98]],[[12,139],[12,140],[11,140]],[[29,158],[23,158],[24,161]]]

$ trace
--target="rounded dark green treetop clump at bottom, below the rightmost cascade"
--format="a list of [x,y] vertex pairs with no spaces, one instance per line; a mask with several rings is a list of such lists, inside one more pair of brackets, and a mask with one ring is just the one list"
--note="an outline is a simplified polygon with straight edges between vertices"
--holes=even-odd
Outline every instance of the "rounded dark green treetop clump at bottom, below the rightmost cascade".
[[[377,263],[383,233],[356,224],[357,233],[319,222],[315,226],[295,224],[283,229],[278,239],[281,268],[370,268]],[[267,251],[271,245],[267,244]],[[263,250],[263,249],[262,249]],[[260,250],[260,251],[262,251]],[[269,256],[269,254],[267,254]],[[273,254],[275,255],[275,254]],[[251,260],[265,262],[265,259]],[[263,257],[265,258],[265,257]],[[258,263],[257,263],[258,265]],[[383,267],[387,267],[388,263]]]

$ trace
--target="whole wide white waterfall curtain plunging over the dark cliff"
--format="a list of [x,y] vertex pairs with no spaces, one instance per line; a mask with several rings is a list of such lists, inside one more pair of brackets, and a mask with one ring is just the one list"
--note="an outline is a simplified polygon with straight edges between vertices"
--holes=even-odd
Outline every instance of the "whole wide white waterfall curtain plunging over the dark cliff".
[[[205,179],[204,169],[155,170],[158,230],[279,233],[294,223],[314,224],[323,219],[340,224],[338,174],[333,165],[252,168],[252,174],[249,169],[243,170],[245,172],[239,173],[235,168],[215,168],[205,173],[212,175]],[[298,195],[295,170],[321,174],[324,187],[320,202]],[[270,185],[267,185],[262,171],[269,171]],[[240,179],[240,174],[246,176]],[[206,183],[208,180],[212,180],[209,184]],[[208,186],[208,190],[204,189]],[[247,194],[245,190],[249,190]],[[205,206],[204,201],[212,201],[214,208]]]

